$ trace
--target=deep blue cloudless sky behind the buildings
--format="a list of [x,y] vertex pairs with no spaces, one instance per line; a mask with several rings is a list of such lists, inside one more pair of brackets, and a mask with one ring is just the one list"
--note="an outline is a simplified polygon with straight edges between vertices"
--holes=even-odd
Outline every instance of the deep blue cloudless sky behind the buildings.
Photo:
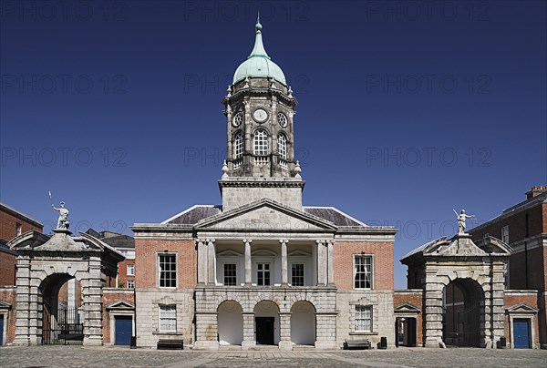
[[298,99],[304,204],[399,229],[398,260],[547,184],[542,1],[0,5],[0,200],[130,234],[221,202],[220,101],[264,46]]

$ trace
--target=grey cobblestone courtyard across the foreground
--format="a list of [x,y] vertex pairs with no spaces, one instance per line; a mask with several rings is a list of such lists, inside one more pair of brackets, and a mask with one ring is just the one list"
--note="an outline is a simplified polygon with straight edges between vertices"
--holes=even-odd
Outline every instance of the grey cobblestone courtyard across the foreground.
[[2,367],[545,367],[547,351],[401,348],[387,351],[157,351],[119,347],[0,348]]

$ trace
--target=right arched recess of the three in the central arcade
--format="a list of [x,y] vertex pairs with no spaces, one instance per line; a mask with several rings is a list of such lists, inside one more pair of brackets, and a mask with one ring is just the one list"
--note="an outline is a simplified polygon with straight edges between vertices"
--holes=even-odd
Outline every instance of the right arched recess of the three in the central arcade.
[[311,302],[295,302],[291,308],[291,342],[315,344],[315,307]]

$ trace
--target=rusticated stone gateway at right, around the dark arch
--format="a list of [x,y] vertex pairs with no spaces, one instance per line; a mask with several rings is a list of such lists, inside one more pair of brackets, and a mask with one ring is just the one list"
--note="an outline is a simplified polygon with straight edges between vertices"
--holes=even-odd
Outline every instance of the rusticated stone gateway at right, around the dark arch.
[[[469,234],[463,233],[449,240],[433,240],[411,251],[401,260],[408,265],[408,275],[414,275],[412,287],[424,291],[423,328],[426,347],[444,347],[447,337],[451,344],[458,342],[459,335],[455,333],[459,331],[469,336],[464,341],[459,338],[461,343],[497,347],[501,336],[505,334],[504,266],[511,251],[501,240],[484,238],[475,243]],[[449,291],[456,286],[454,290],[459,291],[461,299],[467,299],[469,304],[461,311],[467,312],[464,316],[467,318],[467,326],[452,324],[454,327],[450,331],[445,328],[447,321],[443,320],[446,317],[447,286]]]

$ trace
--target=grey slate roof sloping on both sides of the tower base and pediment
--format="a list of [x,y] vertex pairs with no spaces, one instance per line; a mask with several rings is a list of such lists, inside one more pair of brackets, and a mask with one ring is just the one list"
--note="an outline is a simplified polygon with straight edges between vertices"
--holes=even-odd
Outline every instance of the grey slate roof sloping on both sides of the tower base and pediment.
[[[334,207],[304,207],[304,212],[330,221],[335,226],[346,227],[366,227],[366,224],[346,215],[346,213],[336,210]],[[222,213],[222,206],[196,205],[188,210],[183,210],[162,224],[194,225],[200,220],[210,218]]]

